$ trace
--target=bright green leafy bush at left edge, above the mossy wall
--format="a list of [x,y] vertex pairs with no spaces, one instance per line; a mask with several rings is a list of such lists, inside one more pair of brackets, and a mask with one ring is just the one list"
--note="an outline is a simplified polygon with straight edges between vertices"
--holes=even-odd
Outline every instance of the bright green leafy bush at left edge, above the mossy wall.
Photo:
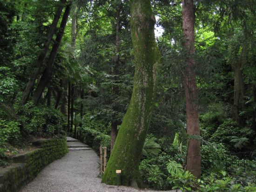
[[0,145],[4,142],[15,142],[20,137],[20,127],[16,121],[0,119]]

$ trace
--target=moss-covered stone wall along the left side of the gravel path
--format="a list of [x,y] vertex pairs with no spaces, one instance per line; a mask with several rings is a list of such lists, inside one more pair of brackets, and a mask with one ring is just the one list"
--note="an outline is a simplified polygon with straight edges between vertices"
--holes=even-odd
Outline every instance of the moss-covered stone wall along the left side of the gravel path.
[[39,149],[13,159],[15,164],[0,169],[0,192],[18,192],[48,164],[68,152],[67,139],[44,139],[33,143]]

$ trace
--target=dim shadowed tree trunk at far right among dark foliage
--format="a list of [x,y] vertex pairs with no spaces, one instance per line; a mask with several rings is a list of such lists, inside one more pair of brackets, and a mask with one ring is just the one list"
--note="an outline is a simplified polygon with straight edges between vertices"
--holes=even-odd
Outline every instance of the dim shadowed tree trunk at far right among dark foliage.
[[244,82],[243,82],[243,66],[246,62],[247,49],[246,45],[242,46],[239,58],[233,63],[234,70],[234,116],[238,125],[242,126],[243,120],[239,113],[243,111],[244,105]]

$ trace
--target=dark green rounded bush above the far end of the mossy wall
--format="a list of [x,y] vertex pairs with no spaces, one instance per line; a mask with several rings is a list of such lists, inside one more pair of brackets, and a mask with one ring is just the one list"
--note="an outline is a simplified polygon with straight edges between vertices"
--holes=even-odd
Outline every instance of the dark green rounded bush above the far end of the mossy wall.
[[27,133],[50,136],[63,133],[65,118],[63,114],[53,108],[28,102],[19,109],[20,121]]

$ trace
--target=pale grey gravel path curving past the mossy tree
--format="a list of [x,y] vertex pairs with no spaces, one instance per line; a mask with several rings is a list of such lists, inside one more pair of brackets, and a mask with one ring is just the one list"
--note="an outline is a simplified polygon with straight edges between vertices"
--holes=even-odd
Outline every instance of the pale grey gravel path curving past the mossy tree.
[[101,183],[96,152],[79,141],[67,144],[67,155],[45,167],[21,192],[157,192]]

